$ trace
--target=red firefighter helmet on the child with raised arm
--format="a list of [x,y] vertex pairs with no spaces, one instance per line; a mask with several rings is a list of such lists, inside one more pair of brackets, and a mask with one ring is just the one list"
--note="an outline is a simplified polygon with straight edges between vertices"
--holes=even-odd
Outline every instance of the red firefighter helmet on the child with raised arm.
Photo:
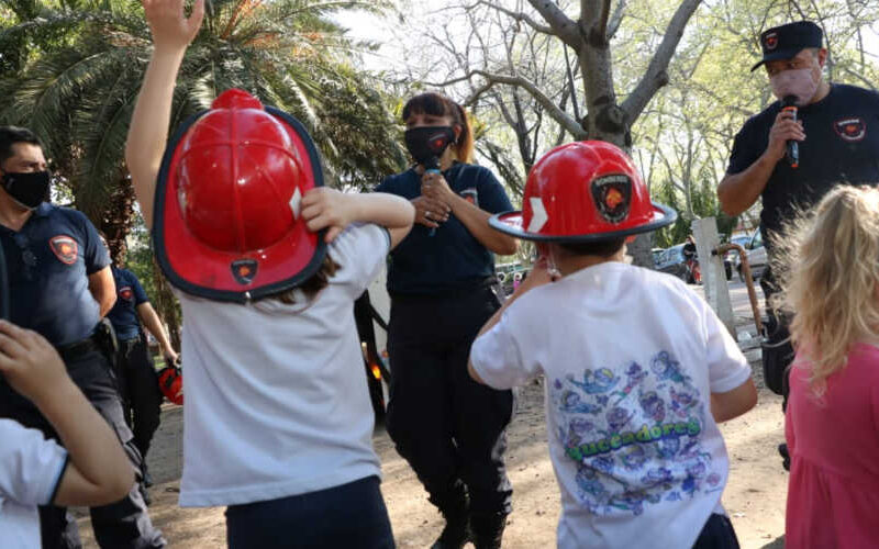
[[154,242],[170,282],[192,295],[246,302],[296,287],[323,262],[300,201],[323,186],[299,121],[242,90],[177,131],[156,186]]

